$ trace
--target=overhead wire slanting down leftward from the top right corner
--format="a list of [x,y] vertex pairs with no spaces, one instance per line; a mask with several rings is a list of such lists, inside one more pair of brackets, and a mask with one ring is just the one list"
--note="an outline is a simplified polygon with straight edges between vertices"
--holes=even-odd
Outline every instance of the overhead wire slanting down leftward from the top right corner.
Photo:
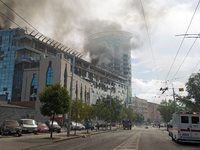
[[[189,25],[188,25],[188,27],[187,27],[187,30],[186,30],[186,32],[185,32],[185,35],[187,34],[187,32],[188,32],[188,30],[189,30],[189,28],[190,28],[190,25],[191,25],[191,23],[192,23],[192,21],[193,21],[193,18],[194,18],[194,16],[195,16],[195,14],[196,14],[197,8],[199,7],[199,3],[200,3],[200,0],[199,0],[197,6],[196,6],[196,8],[195,8],[195,11],[194,11],[193,16],[192,16],[192,18],[191,18],[191,20],[190,20],[190,23],[189,23]],[[175,60],[176,60],[176,57],[178,56],[178,53],[179,53],[179,51],[180,51],[180,49],[181,49],[181,47],[182,47],[182,45],[183,45],[184,39],[185,39],[185,36],[183,37],[183,39],[182,39],[182,41],[181,41],[181,44],[180,44],[180,46],[179,46],[179,48],[178,48],[178,51],[177,51],[177,53],[176,53],[176,55],[175,55],[175,58],[174,58],[174,60],[173,60],[173,62],[172,62],[172,65],[171,65],[171,67],[170,67],[170,69],[169,69],[169,71],[168,71],[168,73],[167,73],[167,76],[166,76],[165,80],[167,80],[167,78],[168,78],[168,76],[169,76],[169,73],[171,72],[171,69],[172,69],[172,67],[173,67],[173,65],[174,65],[174,62],[175,62]]]

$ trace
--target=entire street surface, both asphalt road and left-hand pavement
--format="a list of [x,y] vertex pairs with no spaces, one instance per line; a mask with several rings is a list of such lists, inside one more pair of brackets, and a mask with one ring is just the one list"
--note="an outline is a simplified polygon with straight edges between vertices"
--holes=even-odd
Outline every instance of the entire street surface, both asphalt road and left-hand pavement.
[[[49,134],[44,135],[25,135],[23,137],[0,138],[1,149],[6,150],[194,150],[200,149],[198,144],[175,143],[168,136],[165,128],[132,128],[132,130],[98,131],[100,134],[90,134],[89,137],[62,139],[65,133],[55,134],[62,140],[51,141],[44,139]],[[83,133],[83,132],[82,132]],[[85,131],[84,131],[85,133]],[[95,133],[95,132],[94,132]],[[80,131],[77,135],[82,135]]]

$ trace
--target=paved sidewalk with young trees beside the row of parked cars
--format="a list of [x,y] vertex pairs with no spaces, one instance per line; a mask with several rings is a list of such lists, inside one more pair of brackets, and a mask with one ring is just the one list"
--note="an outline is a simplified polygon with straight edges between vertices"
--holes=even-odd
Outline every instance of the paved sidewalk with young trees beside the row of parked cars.
[[[74,131],[70,131],[70,136],[67,136],[67,132],[62,129],[61,133],[55,133],[53,132],[52,137],[50,138],[49,133],[39,133],[38,135],[34,134],[23,134],[20,137],[13,137],[13,136],[3,136],[0,138],[0,147],[1,149],[6,150],[18,150],[18,149],[29,149],[31,147],[40,147],[43,145],[49,145],[55,142],[61,142],[66,140],[71,140],[75,138],[88,138],[89,136],[95,135],[95,134],[102,134],[106,132],[115,131],[115,128],[112,128],[112,130],[96,130],[93,131],[88,130],[89,133],[87,133],[87,130],[81,130],[76,131],[76,135],[74,135]],[[89,135],[89,136],[88,136]]]

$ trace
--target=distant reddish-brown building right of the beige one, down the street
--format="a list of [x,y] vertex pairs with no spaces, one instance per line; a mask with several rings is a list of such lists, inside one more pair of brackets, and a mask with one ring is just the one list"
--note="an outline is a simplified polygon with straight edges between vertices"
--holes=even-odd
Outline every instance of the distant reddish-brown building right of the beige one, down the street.
[[161,123],[162,117],[160,115],[160,112],[157,110],[157,108],[158,108],[158,104],[148,102],[148,107],[147,107],[148,118],[151,119],[153,124]]

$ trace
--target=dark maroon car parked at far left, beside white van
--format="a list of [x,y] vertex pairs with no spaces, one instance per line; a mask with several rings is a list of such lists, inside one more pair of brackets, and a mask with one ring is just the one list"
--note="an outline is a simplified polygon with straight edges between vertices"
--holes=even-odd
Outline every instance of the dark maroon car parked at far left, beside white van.
[[5,120],[0,128],[0,134],[18,134],[21,136],[22,129],[16,120]]

